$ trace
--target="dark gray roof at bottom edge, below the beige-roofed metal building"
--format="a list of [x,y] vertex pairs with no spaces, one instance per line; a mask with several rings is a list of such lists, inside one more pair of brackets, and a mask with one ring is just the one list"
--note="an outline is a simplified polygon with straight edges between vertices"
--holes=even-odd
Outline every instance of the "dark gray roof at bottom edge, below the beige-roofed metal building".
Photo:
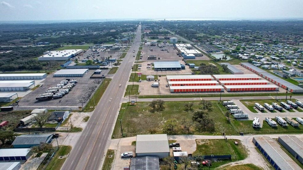
[[155,156],[143,156],[131,158],[130,170],[159,170],[159,158]]

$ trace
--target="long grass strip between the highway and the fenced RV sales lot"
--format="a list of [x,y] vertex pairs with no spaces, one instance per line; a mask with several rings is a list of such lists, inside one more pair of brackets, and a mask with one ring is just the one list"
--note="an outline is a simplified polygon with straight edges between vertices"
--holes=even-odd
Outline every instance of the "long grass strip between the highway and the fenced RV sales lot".
[[91,100],[88,100],[88,103],[87,103],[85,109],[83,110],[83,112],[91,112],[95,109],[94,106],[97,106],[99,100],[101,99],[102,95],[104,94],[104,92],[110,82],[111,82],[111,79],[108,79],[108,78],[103,80],[102,84],[99,86],[97,91],[94,93],[94,96],[91,98]]

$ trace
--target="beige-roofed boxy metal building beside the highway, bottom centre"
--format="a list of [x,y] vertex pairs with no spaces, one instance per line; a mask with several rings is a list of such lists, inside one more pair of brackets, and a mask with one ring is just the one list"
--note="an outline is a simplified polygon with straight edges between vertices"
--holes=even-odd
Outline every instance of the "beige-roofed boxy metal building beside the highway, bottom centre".
[[167,135],[137,135],[136,157],[139,156],[158,156],[159,158],[169,156]]

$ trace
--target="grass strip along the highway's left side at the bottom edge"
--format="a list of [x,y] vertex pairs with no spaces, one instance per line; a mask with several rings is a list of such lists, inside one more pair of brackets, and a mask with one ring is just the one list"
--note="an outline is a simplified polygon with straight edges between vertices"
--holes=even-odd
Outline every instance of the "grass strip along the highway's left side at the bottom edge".
[[46,170],[59,170],[63,165],[66,158],[58,159],[59,156],[67,155],[71,152],[71,146],[59,146],[59,150],[56,152],[53,159],[51,159],[50,163],[46,166]]

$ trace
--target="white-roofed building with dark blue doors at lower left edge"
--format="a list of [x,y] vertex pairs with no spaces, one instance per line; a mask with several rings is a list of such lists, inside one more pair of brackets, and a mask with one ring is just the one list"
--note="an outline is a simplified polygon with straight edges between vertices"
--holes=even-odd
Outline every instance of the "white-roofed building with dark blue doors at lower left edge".
[[0,161],[26,161],[29,157],[29,148],[0,149]]

